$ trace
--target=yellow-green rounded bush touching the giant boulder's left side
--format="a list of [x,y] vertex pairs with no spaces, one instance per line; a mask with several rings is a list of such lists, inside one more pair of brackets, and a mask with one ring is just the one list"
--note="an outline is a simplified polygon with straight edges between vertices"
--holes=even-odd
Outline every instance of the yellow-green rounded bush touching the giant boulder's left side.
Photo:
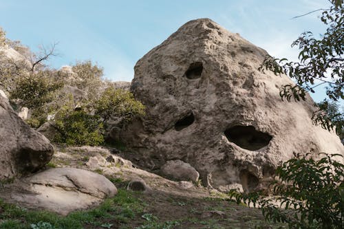
[[105,89],[96,101],[95,110],[104,122],[111,117],[120,117],[129,121],[133,116],[144,115],[144,105],[136,101],[130,91],[113,87]]

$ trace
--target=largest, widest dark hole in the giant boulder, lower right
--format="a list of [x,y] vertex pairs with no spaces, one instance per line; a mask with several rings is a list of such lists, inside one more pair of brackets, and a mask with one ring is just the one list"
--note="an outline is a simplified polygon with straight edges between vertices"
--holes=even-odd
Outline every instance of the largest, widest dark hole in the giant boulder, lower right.
[[257,151],[267,146],[272,139],[268,133],[256,131],[252,126],[230,127],[224,131],[224,134],[230,142],[250,151]]

